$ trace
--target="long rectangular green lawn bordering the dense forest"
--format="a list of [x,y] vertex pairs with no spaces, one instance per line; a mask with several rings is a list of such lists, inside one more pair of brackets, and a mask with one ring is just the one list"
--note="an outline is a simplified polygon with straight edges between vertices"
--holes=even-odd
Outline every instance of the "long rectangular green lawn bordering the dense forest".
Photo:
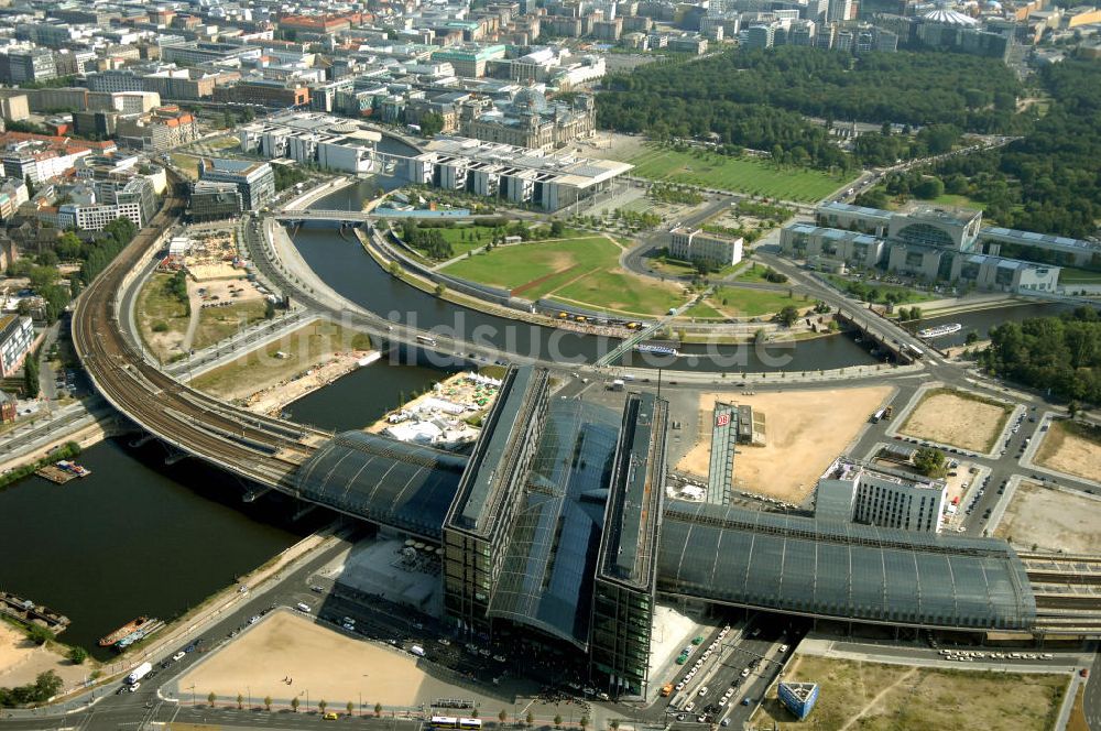
[[676,152],[657,146],[626,162],[633,174],[655,181],[687,183],[722,190],[751,193],[784,200],[815,201],[825,198],[854,176],[835,176],[814,170],[777,166],[752,157],[727,157],[712,153]]

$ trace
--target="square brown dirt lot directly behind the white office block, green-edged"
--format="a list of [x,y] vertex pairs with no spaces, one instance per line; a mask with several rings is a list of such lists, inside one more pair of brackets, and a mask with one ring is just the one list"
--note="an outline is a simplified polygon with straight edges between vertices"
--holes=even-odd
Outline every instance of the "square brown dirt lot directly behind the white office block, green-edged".
[[994,448],[1012,408],[947,389],[926,391],[898,433],[971,451]]

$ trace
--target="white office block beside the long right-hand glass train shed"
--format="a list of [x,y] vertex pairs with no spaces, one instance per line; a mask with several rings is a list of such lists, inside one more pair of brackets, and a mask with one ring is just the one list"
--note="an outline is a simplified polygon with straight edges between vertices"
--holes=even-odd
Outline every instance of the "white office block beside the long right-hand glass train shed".
[[939,533],[947,490],[944,480],[839,459],[818,480],[815,517]]

